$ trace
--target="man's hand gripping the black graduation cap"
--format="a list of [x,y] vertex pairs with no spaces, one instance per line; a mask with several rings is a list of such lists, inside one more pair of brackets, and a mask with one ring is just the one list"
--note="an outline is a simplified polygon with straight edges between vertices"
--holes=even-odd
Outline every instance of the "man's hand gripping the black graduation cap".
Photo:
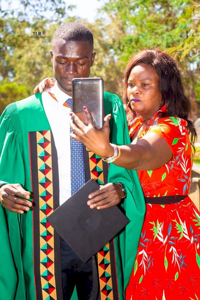
[[89,194],[87,204],[90,208],[104,209],[119,204],[122,197],[123,192],[118,184],[107,183]]

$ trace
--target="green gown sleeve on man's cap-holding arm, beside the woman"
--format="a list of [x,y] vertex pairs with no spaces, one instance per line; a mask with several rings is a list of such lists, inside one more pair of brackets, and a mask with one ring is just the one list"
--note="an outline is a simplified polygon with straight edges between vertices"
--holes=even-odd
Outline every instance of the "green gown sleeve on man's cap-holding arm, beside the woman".
[[[130,144],[131,141],[129,138],[128,124],[123,103],[117,95],[108,94],[107,97],[112,106],[112,117],[110,120],[111,142],[116,145]],[[106,114],[108,113],[110,113],[110,111],[106,111]],[[124,291],[131,276],[142,231],[145,201],[136,170],[128,170],[110,163],[108,182],[122,182],[127,190],[127,197],[121,201],[120,206],[130,222],[115,238],[117,270],[120,270],[120,266],[118,266],[120,262],[119,257],[121,257],[123,268],[123,287],[120,288],[120,285],[118,284],[119,298],[124,299]],[[120,253],[118,252],[117,242],[120,244]],[[120,271],[118,271],[118,283],[121,279],[119,276],[121,276]]]

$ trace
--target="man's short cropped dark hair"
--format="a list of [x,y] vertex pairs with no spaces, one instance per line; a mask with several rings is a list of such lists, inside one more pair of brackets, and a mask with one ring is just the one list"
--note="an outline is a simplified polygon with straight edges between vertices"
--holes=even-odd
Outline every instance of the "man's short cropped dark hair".
[[66,23],[58,27],[53,33],[52,49],[57,40],[61,38],[64,41],[88,41],[93,47],[93,34],[89,28],[80,23]]

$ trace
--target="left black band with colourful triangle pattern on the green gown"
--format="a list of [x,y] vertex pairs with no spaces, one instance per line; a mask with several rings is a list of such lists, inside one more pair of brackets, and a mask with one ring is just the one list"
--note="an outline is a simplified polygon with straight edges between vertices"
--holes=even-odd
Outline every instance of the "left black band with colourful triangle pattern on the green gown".
[[60,237],[46,217],[59,206],[58,158],[50,130],[29,133],[37,300],[62,300]]

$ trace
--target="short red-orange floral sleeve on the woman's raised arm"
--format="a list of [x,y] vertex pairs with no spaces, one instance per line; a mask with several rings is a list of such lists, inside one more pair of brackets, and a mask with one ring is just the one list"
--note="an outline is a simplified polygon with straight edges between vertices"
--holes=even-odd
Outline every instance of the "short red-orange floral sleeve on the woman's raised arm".
[[178,148],[189,143],[187,122],[178,117],[168,117],[158,119],[158,123],[153,125],[148,133],[158,133],[168,143],[173,155],[178,151]]

